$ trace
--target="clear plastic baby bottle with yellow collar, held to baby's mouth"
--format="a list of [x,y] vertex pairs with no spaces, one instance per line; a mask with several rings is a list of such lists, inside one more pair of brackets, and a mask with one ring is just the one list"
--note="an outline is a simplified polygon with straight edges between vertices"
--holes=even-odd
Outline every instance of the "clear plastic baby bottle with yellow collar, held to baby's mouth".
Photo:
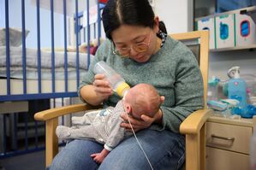
[[124,97],[130,89],[130,86],[125,82],[122,76],[116,73],[116,71],[104,61],[100,61],[95,64],[93,67],[93,73],[103,73],[106,79],[110,82],[112,90],[120,97]]

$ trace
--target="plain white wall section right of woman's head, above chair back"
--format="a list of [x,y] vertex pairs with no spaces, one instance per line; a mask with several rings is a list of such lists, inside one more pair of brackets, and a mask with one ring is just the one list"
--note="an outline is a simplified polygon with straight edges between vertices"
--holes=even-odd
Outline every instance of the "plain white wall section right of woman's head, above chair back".
[[168,33],[193,30],[192,0],[155,0],[155,13],[164,21]]

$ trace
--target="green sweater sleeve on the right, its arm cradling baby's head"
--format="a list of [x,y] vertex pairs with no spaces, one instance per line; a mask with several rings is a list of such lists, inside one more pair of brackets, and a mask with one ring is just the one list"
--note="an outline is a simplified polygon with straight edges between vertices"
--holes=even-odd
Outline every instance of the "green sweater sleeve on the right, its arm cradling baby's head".
[[[187,47],[186,47],[187,48]],[[204,106],[204,86],[198,63],[190,50],[178,52],[176,63],[176,80],[174,83],[174,106],[167,104],[161,107],[163,112],[162,126],[154,126],[155,130],[168,129],[179,132],[180,125],[189,114]],[[184,57],[186,56],[186,57]]]

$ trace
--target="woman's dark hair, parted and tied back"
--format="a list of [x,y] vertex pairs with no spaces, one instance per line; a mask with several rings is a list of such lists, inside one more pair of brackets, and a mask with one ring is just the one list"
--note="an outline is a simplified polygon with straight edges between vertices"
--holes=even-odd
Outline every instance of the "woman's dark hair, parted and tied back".
[[[109,0],[102,13],[104,32],[110,40],[111,33],[122,24],[153,28],[154,18],[148,0]],[[159,29],[167,33],[163,21],[159,22]]]

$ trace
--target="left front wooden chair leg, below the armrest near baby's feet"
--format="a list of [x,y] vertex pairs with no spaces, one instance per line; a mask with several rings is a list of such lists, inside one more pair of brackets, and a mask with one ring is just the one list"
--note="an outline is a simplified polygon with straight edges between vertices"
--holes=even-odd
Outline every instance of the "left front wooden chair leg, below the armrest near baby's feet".
[[58,152],[58,139],[55,133],[58,120],[57,118],[46,121],[46,137],[45,141],[45,166],[49,167],[54,156]]

